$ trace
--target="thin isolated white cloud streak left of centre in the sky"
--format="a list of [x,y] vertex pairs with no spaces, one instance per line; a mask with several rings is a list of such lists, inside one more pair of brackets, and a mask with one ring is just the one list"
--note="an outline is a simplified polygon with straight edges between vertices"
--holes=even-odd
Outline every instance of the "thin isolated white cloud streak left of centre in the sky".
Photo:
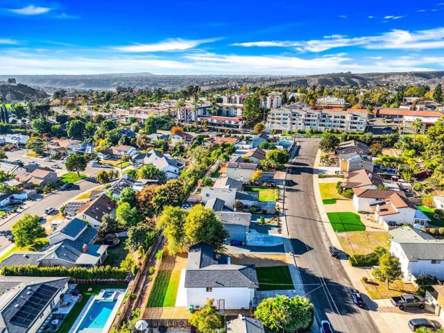
[[182,40],[182,38],[164,40],[163,42],[153,44],[135,44],[127,46],[114,46],[112,49],[123,52],[160,52],[160,51],[185,51],[187,49],[194,49],[200,44],[214,42],[216,39],[208,40]]

